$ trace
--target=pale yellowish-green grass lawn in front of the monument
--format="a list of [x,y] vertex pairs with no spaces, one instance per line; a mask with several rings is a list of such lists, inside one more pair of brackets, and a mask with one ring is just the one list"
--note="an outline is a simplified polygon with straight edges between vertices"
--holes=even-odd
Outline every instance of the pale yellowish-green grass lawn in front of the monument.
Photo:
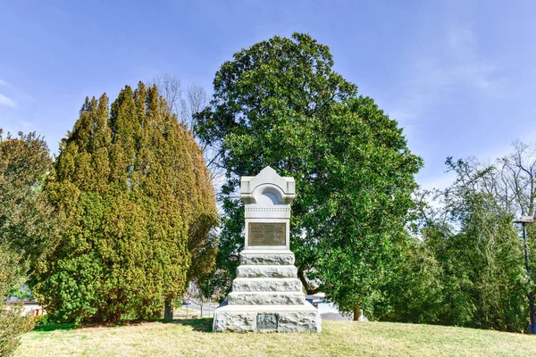
[[[536,336],[387,322],[323,321],[321,334],[215,334],[212,319],[34,330],[16,356],[529,356]],[[71,328],[71,329],[69,329]]]

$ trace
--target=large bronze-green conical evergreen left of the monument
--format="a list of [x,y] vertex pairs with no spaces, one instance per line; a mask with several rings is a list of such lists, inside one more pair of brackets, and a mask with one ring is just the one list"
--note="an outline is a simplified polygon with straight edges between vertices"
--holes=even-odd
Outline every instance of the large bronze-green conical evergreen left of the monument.
[[203,156],[156,87],[86,98],[46,192],[66,223],[36,289],[58,320],[169,317],[192,256],[214,252]]

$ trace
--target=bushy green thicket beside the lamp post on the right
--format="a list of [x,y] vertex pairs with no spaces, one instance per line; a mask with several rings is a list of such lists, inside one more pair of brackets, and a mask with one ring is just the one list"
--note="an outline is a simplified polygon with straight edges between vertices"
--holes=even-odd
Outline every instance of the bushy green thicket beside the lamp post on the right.
[[[497,172],[447,161],[456,181],[423,214],[419,239],[398,259],[375,317],[418,323],[523,331],[532,284],[513,220],[490,195]],[[382,306],[381,306],[382,305]]]

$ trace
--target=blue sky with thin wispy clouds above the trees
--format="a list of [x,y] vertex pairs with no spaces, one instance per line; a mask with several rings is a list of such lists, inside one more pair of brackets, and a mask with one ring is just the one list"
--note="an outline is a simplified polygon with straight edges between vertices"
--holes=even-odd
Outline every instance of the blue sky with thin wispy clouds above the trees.
[[0,0],[0,128],[57,153],[87,95],[163,72],[211,93],[240,48],[308,32],[404,128],[417,181],[445,187],[447,156],[536,143],[535,14],[533,1]]

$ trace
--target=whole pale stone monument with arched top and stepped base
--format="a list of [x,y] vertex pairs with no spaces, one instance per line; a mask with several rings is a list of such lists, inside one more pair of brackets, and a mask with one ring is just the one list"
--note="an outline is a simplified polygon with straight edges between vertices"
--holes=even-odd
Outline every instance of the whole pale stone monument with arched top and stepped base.
[[246,242],[227,303],[214,313],[214,331],[320,332],[320,313],[306,302],[289,249],[295,182],[271,167],[241,179]]

